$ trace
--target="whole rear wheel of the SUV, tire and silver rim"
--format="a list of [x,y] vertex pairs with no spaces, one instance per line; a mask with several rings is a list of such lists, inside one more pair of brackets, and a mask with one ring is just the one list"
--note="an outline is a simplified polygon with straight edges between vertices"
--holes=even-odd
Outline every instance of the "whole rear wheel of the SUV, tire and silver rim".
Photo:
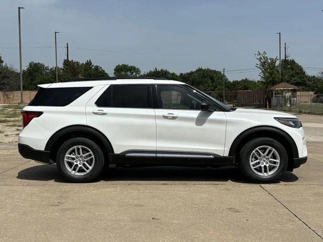
[[[66,155],[69,156],[66,157]],[[104,157],[96,143],[78,137],[67,140],[61,145],[57,152],[56,163],[60,173],[72,183],[88,183],[101,173]]]

